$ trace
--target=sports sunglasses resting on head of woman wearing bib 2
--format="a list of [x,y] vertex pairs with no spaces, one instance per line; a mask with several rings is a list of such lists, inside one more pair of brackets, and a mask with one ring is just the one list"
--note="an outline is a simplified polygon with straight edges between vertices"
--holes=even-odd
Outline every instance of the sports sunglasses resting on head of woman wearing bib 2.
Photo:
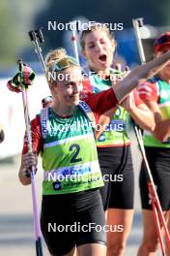
[[52,72],[65,70],[69,68],[71,64],[79,67],[79,63],[75,58],[71,56],[66,56],[53,64]]

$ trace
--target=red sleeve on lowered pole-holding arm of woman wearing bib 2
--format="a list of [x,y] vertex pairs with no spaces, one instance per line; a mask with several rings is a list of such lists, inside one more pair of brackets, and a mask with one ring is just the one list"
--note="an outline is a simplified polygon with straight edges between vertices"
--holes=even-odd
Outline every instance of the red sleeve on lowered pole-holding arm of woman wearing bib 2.
[[[31,121],[31,136],[32,136],[33,152],[38,154],[40,151],[42,151],[42,132],[41,132],[40,116],[37,116],[35,119]],[[26,154],[27,151],[28,151],[27,137],[25,134],[22,154]]]

